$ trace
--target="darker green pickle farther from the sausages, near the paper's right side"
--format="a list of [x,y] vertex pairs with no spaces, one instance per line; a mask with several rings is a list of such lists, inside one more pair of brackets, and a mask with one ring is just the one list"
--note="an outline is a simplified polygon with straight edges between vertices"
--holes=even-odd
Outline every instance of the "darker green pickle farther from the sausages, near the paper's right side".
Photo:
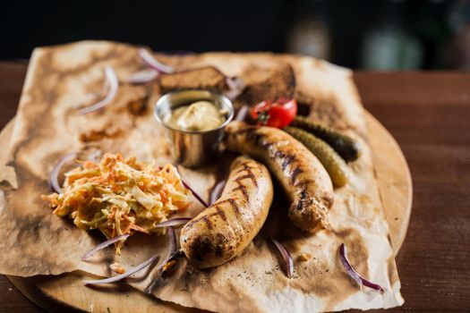
[[362,148],[357,140],[352,139],[349,136],[343,135],[338,131],[333,131],[327,126],[315,123],[303,116],[295,116],[294,121],[290,124],[308,131],[314,136],[320,138],[320,140],[326,141],[331,148],[334,148],[338,155],[341,156],[346,162],[355,161],[358,157],[361,157]]

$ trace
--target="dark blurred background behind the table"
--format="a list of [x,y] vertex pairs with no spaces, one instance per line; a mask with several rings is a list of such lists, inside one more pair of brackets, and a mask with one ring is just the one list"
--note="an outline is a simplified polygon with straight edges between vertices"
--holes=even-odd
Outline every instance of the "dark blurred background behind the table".
[[8,1],[0,59],[107,39],[158,51],[273,51],[356,69],[470,70],[470,2],[438,0]]

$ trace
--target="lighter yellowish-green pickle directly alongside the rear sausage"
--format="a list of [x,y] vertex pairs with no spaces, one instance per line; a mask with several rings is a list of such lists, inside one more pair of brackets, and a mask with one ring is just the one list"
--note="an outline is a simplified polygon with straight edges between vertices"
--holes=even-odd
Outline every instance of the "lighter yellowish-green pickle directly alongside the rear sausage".
[[286,127],[284,131],[289,133],[296,140],[312,151],[320,163],[325,167],[335,187],[343,187],[348,182],[348,167],[345,161],[338,156],[338,153],[329,144],[320,138],[315,137],[307,131],[295,127]]

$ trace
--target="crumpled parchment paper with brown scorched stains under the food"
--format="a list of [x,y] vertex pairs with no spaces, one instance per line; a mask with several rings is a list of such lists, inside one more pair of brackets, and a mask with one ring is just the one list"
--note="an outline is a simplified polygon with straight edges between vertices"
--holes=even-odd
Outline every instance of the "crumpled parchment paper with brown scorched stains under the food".
[[[363,156],[349,165],[351,182],[335,190],[330,211],[331,231],[309,235],[298,231],[286,217],[283,194],[276,192],[267,223],[250,246],[237,258],[216,268],[198,270],[184,261],[175,273],[161,278],[153,294],[185,307],[223,312],[329,311],[391,308],[403,303],[389,228],[383,214],[367,144],[363,107],[351,72],[311,57],[271,54],[208,53],[202,55],[157,55],[177,69],[212,65],[229,77],[250,81],[254,72],[288,64],[295,73],[295,93],[312,103],[311,116],[360,140]],[[164,131],[154,121],[152,105],[158,89],[121,84],[113,103],[104,110],[74,114],[76,103],[99,92],[103,68],[112,65],[120,80],[144,68],[137,47],[111,42],[85,41],[34,51],[21,95],[8,165],[14,167],[17,189],[4,190],[0,207],[0,272],[6,275],[58,275],[82,270],[111,275],[108,264],[118,261],[135,266],[155,253],[165,255],[164,236],[136,235],[123,255],[105,250],[91,262],[80,261],[86,250],[102,241],[99,233],[76,228],[69,219],[51,214],[40,195],[49,192],[47,176],[56,161],[71,151],[99,148],[101,151],[135,156],[164,165],[173,161]],[[143,111],[132,112],[141,103]],[[106,131],[105,131],[106,130]],[[82,142],[83,134],[99,132],[98,140]],[[217,181],[218,165],[198,171],[184,169],[184,180],[202,197]],[[11,177],[4,177],[8,182]],[[13,185],[13,182],[10,184]],[[195,203],[186,216],[202,209]],[[283,241],[295,259],[295,275],[286,278],[269,237]],[[385,292],[360,288],[342,268],[338,247],[346,244],[356,270]],[[298,257],[307,252],[305,262]],[[150,276],[132,279],[143,290]]]

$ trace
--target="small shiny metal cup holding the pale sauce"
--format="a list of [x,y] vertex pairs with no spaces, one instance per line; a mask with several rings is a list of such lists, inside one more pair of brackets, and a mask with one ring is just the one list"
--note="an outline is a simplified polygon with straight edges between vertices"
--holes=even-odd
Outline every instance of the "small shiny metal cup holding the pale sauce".
[[[210,131],[180,131],[165,123],[167,114],[179,106],[189,106],[193,102],[207,100],[219,109],[225,110],[226,121]],[[207,165],[218,151],[218,144],[224,128],[234,117],[232,102],[219,94],[207,90],[182,90],[167,93],[160,97],[154,107],[155,118],[167,130],[167,138],[174,146],[176,162],[186,167]]]

